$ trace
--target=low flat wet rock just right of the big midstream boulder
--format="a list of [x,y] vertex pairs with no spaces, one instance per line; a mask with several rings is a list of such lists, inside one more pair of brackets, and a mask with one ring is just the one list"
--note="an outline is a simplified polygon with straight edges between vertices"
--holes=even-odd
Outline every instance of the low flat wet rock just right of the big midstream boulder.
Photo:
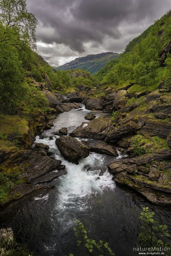
[[90,151],[100,153],[100,154],[107,154],[109,156],[118,156],[118,152],[116,151],[113,145],[107,144],[105,142],[95,143],[91,146]]

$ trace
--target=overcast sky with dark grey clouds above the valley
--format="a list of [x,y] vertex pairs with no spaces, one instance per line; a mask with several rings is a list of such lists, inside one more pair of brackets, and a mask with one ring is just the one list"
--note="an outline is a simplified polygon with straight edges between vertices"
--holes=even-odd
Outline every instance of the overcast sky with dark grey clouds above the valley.
[[58,67],[88,54],[121,52],[171,0],[27,0],[27,7],[38,19],[38,54]]

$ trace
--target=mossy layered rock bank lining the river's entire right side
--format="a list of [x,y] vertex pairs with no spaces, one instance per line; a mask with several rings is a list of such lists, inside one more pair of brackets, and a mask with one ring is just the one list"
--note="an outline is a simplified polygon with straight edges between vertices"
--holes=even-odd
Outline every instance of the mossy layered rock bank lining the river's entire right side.
[[[103,86],[103,85],[102,85]],[[104,89],[104,95],[92,98],[91,90],[81,88],[86,108],[111,113],[83,122],[70,136],[104,140],[126,151],[128,159],[108,164],[116,183],[136,190],[156,204],[171,204],[171,92],[159,86],[153,92],[130,93],[133,86]],[[100,146],[93,146],[100,151]],[[102,151],[105,152],[105,151]],[[105,154],[105,153],[104,153]]]

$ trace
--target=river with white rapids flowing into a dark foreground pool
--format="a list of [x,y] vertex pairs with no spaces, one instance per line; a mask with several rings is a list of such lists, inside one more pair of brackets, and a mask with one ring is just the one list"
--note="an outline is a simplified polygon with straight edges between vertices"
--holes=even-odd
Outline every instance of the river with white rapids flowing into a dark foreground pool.
[[[45,131],[49,138],[39,139],[49,145],[56,159],[66,165],[67,175],[51,182],[56,189],[35,198],[23,201],[16,207],[9,225],[17,238],[26,243],[35,256],[83,256],[75,247],[73,227],[75,219],[84,223],[90,238],[106,240],[116,256],[134,256],[133,247],[139,233],[139,215],[143,206],[156,213],[156,218],[167,224],[171,230],[171,212],[168,208],[154,206],[135,192],[117,186],[108,171],[100,177],[98,172],[85,172],[86,166],[106,166],[114,157],[90,153],[79,160],[79,165],[69,163],[61,156],[55,145],[55,131],[67,127],[69,133],[82,122],[90,112],[81,106],[82,111],[64,112],[54,120],[54,127]],[[97,115],[98,116],[98,115]],[[122,156],[119,156],[122,157]]]

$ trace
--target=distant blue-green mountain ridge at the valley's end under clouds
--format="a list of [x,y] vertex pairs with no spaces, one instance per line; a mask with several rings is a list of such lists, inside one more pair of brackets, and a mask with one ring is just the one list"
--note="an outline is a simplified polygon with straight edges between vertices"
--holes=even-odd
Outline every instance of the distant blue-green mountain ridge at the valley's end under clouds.
[[59,67],[53,67],[55,70],[70,70],[74,68],[81,68],[88,70],[90,73],[97,73],[109,61],[118,58],[119,53],[102,52],[99,54],[91,54],[85,57],[76,58],[74,61],[68,62]]

